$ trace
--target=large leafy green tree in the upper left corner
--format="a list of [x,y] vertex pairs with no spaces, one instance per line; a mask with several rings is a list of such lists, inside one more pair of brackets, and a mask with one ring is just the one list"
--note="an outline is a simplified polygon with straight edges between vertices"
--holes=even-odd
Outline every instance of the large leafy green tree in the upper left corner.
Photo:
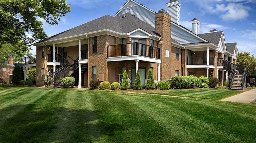
[[14,62],[23,62],[24,56],[30,55],[29,44],[47,38],[43,22],[37,19],[58,24],[71,11],[70,6],[66,0],[0,0],[0,51],[10,44]]

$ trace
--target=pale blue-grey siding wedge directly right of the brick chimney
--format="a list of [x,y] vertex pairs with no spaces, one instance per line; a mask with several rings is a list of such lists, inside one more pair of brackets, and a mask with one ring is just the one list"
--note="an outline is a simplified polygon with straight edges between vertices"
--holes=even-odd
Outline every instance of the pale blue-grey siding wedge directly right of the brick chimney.
[[173,40],[179,42],[180,44],[190,44],[190,43],[200,43],[204,42],[195,36],[189,34],[188,32],[180,29],[176,25],[172,24],[171,37]]

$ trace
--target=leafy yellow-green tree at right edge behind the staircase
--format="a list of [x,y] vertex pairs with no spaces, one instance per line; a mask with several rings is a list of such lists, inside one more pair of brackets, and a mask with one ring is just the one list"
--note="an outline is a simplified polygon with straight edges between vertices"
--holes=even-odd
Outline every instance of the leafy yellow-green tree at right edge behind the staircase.
[[250,55],[250,52],[238,52],[237,64],[238,66],[248,66],[248,75],[256,68],[256,58]]

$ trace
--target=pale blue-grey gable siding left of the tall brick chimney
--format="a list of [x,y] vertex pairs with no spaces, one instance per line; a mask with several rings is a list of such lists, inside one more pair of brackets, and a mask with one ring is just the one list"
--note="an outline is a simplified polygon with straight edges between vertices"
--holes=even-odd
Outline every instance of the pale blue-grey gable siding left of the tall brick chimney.
[[131,14],[134,14],[137,18],[141,19],[142,21],[146,22],[147,24],[149,24],[150,26],[155,28],[155,21],[156,20],[155,20],[155,14],[154,13],[152,13],[152,12],[146,10],[145,8],[137,5],[137,6],[133,6],[133,7],[124,8],[118,14],[118,16],[123,15],[127,12],[129,12]]

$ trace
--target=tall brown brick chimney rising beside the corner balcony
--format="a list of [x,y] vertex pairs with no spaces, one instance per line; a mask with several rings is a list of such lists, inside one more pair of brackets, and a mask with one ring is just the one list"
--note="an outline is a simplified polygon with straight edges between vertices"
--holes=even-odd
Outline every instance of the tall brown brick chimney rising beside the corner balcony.
[[[160,80],[171,79],[171,17],[168,12],[161,9],[156,13],[156,33],[161,35],[158,41],[160,48]],[[169,53],[169,54],[168,54]]]

